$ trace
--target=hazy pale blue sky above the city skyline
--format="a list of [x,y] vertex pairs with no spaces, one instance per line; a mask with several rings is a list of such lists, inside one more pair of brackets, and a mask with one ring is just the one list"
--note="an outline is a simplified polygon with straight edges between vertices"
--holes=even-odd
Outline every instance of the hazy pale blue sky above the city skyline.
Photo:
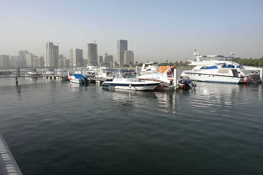
[[134,60],[193,59],[203,55],[263,56],[263,1],[1,1],[0,54],[44,52],[59,42],[59,54],[97,39],[98,55],[117,60],[117,40],[128,40]]

